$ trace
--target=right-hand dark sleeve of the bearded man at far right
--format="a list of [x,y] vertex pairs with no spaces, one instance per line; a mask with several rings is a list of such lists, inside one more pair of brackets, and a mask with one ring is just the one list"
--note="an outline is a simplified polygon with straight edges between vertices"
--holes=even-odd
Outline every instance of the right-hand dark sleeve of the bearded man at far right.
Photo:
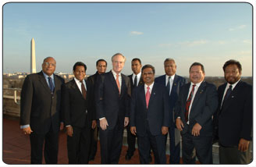
[[244,111],[243,111],[243,123],[242,129],[240,131],[240,137],[244,138],[245,140],[251,140],[251,133],[252,133],[252,87],[247,87],[247,98],[244,103]]

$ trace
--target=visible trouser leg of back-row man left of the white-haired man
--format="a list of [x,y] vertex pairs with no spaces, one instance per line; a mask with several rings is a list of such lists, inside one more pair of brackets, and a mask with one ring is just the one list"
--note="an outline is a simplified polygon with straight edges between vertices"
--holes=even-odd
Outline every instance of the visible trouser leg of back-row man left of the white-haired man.
[[98,126],[94,129],[91,129],[91,147],[90,147],[90,159],[94,159],[97,152],[98,145]]

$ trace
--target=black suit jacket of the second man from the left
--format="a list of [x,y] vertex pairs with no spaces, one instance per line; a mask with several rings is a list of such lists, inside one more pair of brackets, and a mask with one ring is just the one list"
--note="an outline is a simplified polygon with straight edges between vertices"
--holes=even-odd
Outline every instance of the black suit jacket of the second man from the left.
[[[92,94],[93,87],[85,80],[87,87],[86,100],[83,97],[80,89],[77,87],[76,81],[70,80],[65,84],[63,91],[63,112],[65,125],[84,127],[86,116],[88,116],[89,125],[95,119],[95,114],[92,110]],[[87,112],[87,113],[86,113]]]

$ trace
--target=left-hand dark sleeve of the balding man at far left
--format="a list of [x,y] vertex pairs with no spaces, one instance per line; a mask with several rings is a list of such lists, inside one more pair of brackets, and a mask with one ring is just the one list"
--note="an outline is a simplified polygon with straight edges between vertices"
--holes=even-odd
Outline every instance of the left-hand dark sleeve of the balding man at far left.
[[23,82],[20,94],[20,125],[30,124],[30,113],[33,100],[33,84],[30,76]]

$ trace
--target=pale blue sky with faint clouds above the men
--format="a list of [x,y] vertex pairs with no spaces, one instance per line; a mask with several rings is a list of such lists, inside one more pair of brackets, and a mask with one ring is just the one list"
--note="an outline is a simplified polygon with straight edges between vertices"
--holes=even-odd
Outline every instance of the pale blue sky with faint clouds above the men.
[[30,72],[30,41],[36,43],[37,71],[47,56],[56,71],[72,73],[73,64],[105,59],[112,68],[116,52],[130,61],[155,66],[164,74],[166,58],[177,74],[188,76],[193,62],[206,76],[223,76],[222,66],[236,59],[242,75],[252,76],[252,5],[248,3],[7,3],[3,6],[3,72]]

